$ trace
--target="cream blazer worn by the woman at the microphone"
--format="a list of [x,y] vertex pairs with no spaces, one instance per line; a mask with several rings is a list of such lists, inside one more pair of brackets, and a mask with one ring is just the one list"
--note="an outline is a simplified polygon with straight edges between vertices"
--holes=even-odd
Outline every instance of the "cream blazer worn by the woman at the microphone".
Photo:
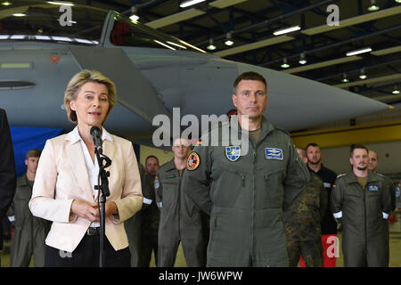
[[[91,221],[70,214],[74,199],[89,203],[94,197],[79,142],[71,143],[71,133],[47,140],[40,156],[29,201],[34,216],[53,221],[45,244],[72,252],[86,234]],[[106,216],[105,232],[115,250],[127,248],[124,221],[142,208],[141,178],[132,143],[112,135],[113,142],[103,141],[103,153],[111,160],[107,200],[114,201],[119,215]],[[70,222],[70,216],[72,221]]]

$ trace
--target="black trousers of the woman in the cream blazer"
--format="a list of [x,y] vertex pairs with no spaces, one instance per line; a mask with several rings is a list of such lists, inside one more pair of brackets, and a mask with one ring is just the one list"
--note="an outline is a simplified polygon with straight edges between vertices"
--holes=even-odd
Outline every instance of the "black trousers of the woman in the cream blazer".
[[[46,245],[45,267],[99,267],[100,236],[85,235],[73,252],[66,252]],[[104,239],[104,266],[129,267],[129,248],[114,250],[109,240]]]

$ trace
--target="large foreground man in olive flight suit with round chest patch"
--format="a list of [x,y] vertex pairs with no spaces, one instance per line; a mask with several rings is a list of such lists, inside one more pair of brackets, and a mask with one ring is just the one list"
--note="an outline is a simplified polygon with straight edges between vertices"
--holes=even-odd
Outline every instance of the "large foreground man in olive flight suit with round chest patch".
[[[288,266],[282,212],[305,190],[310,175],[290,134],[263,116],[264,77],[241,74],[232,98],[238,116],[202,136],[183,177],[184,191],[210,214],[207,265]],[[214,137],[227,129],[228,142]],[[232,144],[242,136],[249,145]]]

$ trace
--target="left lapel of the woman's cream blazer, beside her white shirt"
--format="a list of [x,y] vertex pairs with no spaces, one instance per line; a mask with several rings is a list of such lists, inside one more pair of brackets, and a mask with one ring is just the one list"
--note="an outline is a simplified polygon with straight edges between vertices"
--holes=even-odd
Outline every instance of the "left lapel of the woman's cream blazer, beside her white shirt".
[[89,201],[94,201],[94,194],[91,184],[89,183],[89,176],[87,175],[86,162],[81,143],[75,142],[71,144],[69,142],[67,151],[67,156],[70,159],[70,167],[77,178],[79,187],[84,191]]

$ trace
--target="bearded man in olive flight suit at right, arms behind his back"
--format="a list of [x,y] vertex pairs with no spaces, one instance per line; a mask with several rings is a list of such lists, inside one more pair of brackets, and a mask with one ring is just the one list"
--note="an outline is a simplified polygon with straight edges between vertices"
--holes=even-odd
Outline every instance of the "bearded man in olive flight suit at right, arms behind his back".
[[351,148],[352,171],[339,175],[331,192],[331,211],[342,220],[342,251],[346,267],[389,266],[388,219],[394,210],[389,184],[368,171],[363,145]]

